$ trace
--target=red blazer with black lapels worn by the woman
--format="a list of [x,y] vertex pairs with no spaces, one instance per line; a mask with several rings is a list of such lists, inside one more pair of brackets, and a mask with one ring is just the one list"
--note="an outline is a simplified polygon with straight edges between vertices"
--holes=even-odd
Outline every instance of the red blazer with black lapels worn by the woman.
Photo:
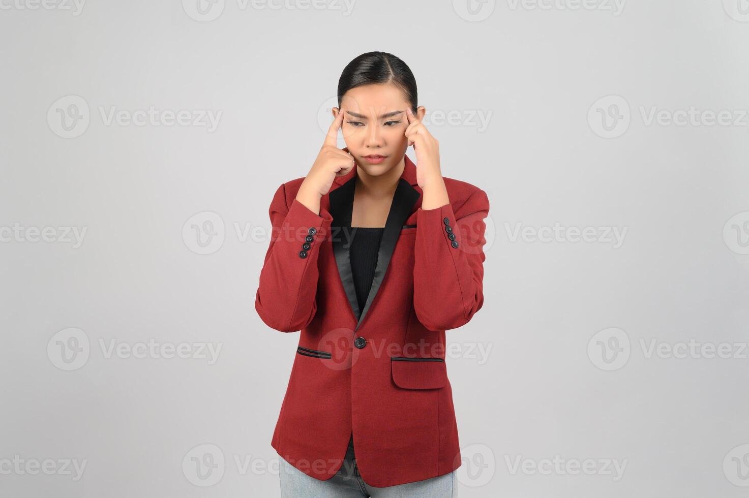
[[416,166],[392,199],[375,278],[357,305],[348,259],[356,168],[337,177],[320,214],[296,199],[303,178],[270,202],[273,236],[255,309],[281,332],[301,330],[271,446],[325,481],[342,467],[353,432],[362,479],[376,488],[461,466],[445,363],[445,330],[481,309],[482,189],[445,178],[449,204],[421,209]]

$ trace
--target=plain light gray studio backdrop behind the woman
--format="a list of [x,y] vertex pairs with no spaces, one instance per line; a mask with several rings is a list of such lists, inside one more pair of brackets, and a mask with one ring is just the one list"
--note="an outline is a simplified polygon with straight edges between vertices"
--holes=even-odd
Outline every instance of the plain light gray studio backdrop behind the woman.
[[491,201],[459,494],[746,496],[747,0],[0,0],[0,42],[1,497],[279,496],[268,204],[371,50]]

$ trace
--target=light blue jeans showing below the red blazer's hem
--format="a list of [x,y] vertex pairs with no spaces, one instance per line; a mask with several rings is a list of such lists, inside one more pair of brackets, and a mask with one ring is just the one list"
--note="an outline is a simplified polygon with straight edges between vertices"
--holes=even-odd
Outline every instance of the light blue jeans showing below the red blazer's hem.
[[359,475],[354,457],[354,438],[348,442],[345,460],[335,476],[321,481],[307,476],[301,470],[279,457],[279,478],[282,498],[455,498],[455,473],[432,477],[404,485],[374,488]]

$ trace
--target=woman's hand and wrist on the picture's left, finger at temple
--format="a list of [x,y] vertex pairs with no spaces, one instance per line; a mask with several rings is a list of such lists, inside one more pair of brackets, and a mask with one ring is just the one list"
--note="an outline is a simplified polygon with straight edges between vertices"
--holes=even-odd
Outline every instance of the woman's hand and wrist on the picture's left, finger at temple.
[[330,124],[325,142],[317,159],[315,159],[315,163],[297,192],[297,201],[300,201],[315,213],[319,213],[320,198],[330,190],[333,180],[336,177],[348,174],[351,168],[356,166],[354,157],[348,153],[348,148],[339,149],[336,146],[338,130],[341,129],[343,123],[343,114],[343,109],[339,109],[338,115]]

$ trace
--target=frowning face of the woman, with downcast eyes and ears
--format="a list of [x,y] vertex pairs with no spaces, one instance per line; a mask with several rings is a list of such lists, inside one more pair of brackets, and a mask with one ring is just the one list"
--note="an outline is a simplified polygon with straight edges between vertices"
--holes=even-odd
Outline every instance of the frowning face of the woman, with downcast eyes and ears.
[[[404,92],[389,83],[351,88],[343,96],[343,139],[348,152],[367,174],[379,176],[390,171],[406,154],[408,106]],[[334,107],[333,117],[338,112],[339,108]],[[416,117],[422,119],[424,112],[423,106],[417,107]]]

